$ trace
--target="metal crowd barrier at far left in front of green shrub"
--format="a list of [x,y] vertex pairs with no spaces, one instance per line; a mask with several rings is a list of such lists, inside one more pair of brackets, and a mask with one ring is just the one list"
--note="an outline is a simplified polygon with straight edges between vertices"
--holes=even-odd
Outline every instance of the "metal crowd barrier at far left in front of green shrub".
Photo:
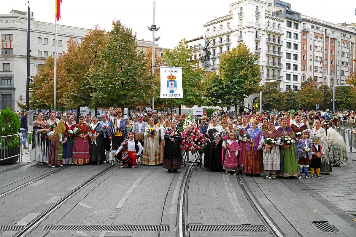
[[[6,160],[16,160],[20,156],[21,148],[20,134],[7,135],[0,137],[0,163],[6,163]],[[19,160],[19,158],[17,158]],[[15,162],[15,161],[14,161]],[[11,163],[11,161],[9,161]]]

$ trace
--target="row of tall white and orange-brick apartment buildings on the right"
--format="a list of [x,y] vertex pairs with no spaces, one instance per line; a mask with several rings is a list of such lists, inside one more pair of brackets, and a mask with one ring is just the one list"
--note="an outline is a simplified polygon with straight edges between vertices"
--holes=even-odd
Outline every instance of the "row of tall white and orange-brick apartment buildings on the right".
[[[310,76],[316,86],[342,84],[355,70],[353,24],[304,16],[280,0],[238,0],[229,5],[228,15],[203,27],[203,37],[211,40],[211,70],[219,70],[221,53],[245,43],[260,56],[261,81],[276,80],[282,91],[299,90]],[[252,108],[257,96],[246,98],[245,106]]]

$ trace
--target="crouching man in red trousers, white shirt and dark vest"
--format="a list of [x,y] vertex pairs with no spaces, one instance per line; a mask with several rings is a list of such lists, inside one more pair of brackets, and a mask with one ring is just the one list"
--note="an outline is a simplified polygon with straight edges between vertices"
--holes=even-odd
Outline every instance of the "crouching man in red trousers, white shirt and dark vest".
[[137,157],[141,155],[143,151],[143,147],[137,139],[135,139],[135,133],[129,133],[129,139],[124,140],[121,143],[121,146],[115,152],[114,156],[122,150],[122,166],[119,168],[125,167],[126,165],[129,168],[136,168],[137,165]]

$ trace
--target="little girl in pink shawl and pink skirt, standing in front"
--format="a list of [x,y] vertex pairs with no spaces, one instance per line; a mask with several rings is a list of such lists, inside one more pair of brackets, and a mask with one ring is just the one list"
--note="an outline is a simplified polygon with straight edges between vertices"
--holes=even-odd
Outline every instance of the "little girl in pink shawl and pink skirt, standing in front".
[[224,149],[226,150],[225,161],[223,169],[226,170],[228,175],[231,175],[231,172],[234,175],[237,174],[237,167],[239,166],[239,162],[237,160],[237,154],[241,147],[239,143],[235,140],[235,134],[229,133],[229,140],[226,141],[226,145],[224,145]]

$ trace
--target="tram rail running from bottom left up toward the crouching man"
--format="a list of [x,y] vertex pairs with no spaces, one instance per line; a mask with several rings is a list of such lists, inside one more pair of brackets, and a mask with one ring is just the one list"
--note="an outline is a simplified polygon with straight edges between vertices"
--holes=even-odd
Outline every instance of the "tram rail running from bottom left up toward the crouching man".
[[[85,187],[87,187],[89,184],[93,183],[96,179],[99,177],[103,176],[105,173],[110,171],[113,167],[115,167],[117,163],[115,163],[112,166],[109,166],[102,171],[94,174],[91,176],[89,179],[84,181],[82,184],[80,184],[78,187],[70,191],[68,194],[63,196],[60,200],[58,200],[55,204],[50,206],[47,210],[43,211],[40,215],[38,215],[34,220],[32,220],[30,223],[27,223],[26,225],[23,225],[23,228],[16,233],[13,237],[25,237],[29,233],[31,233],[37,226],[39,226],[49,215],[51,215],[54,211],[56,211],[62,204],[66,203],[70,198],[72,198],[75,194],[83,190]],[[96,188],[96,187],[95,187]],[[94,189],[95,189],[94,188]],[[93,190],[94,190],[93,189]]]

